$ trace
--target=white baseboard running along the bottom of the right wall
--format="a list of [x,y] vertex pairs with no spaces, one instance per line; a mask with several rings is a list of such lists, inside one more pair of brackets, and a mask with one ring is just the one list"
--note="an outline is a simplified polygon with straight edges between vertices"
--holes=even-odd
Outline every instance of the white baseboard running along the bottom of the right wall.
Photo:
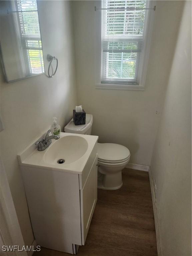
[[158,256],[162,256],[160,230],[159,230],[160,225],[159,225],[159,217],[158,217],[157,203],[156,203],[156,197],[155,197],[155,187],[154,187],[154,182],[153,182],[153,177],[152,177],[152,174],[151,174],[151,168],[150,167],[149,167],[149,180],[150,180],[151,195],[152,195],[152,201],[153,201],[153,212],[154,212],[154,219],[155,219],[157,251],[158,251]]

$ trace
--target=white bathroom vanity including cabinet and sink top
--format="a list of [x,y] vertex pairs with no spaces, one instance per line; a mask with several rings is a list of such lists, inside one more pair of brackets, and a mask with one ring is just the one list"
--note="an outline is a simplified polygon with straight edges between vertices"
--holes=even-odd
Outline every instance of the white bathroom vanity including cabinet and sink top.
[[85,244],[97,201],[97,140],[61,133],[46,150],[33,143],[18,155],[38,245],[76,254]]

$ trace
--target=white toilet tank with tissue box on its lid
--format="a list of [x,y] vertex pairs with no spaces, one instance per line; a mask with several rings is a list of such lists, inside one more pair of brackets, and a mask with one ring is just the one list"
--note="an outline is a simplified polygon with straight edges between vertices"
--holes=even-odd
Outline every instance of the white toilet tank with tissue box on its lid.
[[93,115],[86,114],[85,124],[75,125],[73,119],[65,126],[64,131],[70,133],[88,134],[91,135],[93,124]]

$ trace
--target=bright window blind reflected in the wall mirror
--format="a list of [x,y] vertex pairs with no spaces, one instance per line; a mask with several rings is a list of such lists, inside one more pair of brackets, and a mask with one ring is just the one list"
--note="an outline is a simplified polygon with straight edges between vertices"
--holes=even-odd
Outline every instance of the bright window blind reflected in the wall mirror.
[[31,74],[44,72],[43,51],[36,0],[17,0],[22,47]]

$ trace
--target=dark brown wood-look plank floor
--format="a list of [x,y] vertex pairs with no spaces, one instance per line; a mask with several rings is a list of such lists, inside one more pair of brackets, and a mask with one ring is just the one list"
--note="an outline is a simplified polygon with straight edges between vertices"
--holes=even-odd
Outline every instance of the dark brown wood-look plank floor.
[[[69,256],[46,248],[34,256]],[[123,170],[118,190],[98,190],[87,240],[78,256],[157,256],[148,173]]]

